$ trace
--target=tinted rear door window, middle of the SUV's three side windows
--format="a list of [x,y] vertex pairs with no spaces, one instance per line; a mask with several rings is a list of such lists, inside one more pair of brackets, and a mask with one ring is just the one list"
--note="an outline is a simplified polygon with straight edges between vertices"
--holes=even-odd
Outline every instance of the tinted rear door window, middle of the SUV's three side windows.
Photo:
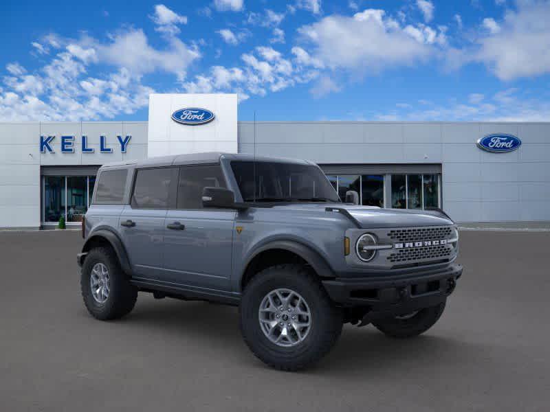
[[172,168],[137,170],[131,205],[134,209],[166,209]]

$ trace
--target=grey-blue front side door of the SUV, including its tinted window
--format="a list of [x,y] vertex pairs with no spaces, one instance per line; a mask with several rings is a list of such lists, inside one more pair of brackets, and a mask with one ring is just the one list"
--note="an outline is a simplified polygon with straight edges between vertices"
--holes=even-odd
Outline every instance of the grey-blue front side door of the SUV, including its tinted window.
[[202,207],[206,186],[226,187],[219,164],[179,168],[176,208],[165,219],[166,282],[230,290],[236,210]]

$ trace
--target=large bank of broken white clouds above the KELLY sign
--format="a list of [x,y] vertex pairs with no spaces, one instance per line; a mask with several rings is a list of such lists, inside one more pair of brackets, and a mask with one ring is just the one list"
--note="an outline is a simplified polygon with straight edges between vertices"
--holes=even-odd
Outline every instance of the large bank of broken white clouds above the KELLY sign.
[[[134,113],[154,92],[142,84],[144,74],[165,71],[183,81],[188,65],[200,57],[179,38],[165,36],[164,41],[166,47],[157,49],[133,28],[111,34],[107,41],[48,34],[33,42],[52,52],[40,69],[29,73],[17,63],[6,67],[10,76],[2,79],[0,119],[75,121]],[[102,74],[89,76],[96,65]]]

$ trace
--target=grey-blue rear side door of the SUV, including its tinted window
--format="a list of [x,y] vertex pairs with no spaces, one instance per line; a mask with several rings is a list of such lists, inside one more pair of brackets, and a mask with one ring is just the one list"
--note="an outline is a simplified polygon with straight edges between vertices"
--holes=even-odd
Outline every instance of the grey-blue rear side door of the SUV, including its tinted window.
[[[135,277],[158,279],[162,270],[164,219],[177,168],[135,171],[130,205],[120,216],[120,233]],[[175,201],[175,199],[174,199]]]

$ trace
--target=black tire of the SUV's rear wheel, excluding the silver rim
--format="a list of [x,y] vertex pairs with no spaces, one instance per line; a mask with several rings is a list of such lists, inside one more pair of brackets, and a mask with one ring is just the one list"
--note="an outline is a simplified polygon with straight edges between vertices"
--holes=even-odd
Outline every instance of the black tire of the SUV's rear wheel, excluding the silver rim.
[[[90,287],[91,270],[97,263],[104,264],[109,271],[109,297],[102,304],[94,299]],[[130,284],[128,277],[120,268],[118,258],[109,247],[97,247],[89,251],[80,274],[80,290],[88,312],[102,321],[119,319],[129,314],[137,300],[137,288]]]

